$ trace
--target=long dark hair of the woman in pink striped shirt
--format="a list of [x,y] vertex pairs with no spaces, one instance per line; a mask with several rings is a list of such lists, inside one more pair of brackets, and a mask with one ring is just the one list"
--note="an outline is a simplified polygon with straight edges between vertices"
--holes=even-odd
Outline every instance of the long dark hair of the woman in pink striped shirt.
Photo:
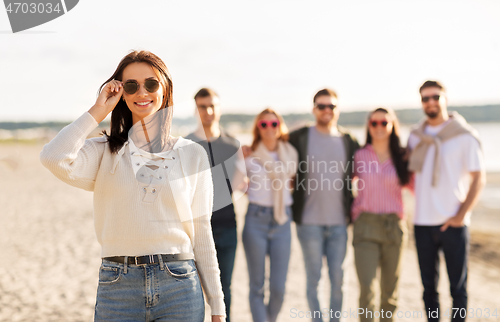
[[[376,112],[384,112],[391,116],[392,118],[392,133],[389,138],[389,150],[391,151],[391,158],[396,172],[398,174],[399,183],[404,186],[410,182],[410,172],[408,171],[408,160],[405,157],[406,149],[401,146],[401,140],[399,139],[399,121],[396,113],[390,108],[379,107],[368,114],[368,122],[372,115]],[[366,144],[372,143],[372,136],[370,135],[369,124],[366,127]]]

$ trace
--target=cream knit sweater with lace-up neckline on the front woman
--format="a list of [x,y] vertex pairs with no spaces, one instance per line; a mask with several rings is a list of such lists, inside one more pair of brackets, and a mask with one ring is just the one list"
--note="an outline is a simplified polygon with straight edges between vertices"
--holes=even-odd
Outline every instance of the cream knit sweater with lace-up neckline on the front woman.
[[213,185],[208,156],[179,138],[179,156],[161,179],[138,181],[128,144],[111,153],[105,137],[86,139],[98,123],[88,112],[43,147],[42,164],[62,181],[94,192],[94,225],[102,257],[191,253],[212,315],[225,315],[212,237]]

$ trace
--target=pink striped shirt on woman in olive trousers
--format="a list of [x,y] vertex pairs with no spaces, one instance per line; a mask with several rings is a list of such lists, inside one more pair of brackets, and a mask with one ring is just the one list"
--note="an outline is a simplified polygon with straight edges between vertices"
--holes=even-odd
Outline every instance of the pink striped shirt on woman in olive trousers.
[[391,158],[380,163],[372,145],[367,144],[354,154],[354,176],[359,181],[357,183],[358,195],[354,199],[351,210],[353,221],[362,212],[396,213],[399,218],[403,219],[403,187],[399,183]]

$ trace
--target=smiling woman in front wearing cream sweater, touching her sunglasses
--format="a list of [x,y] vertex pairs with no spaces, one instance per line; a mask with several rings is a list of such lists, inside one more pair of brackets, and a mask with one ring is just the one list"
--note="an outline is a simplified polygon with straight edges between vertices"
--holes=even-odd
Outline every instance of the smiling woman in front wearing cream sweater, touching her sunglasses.
[[[59,179],[94,192],[95,321],[203,321],[202,283],[212,321],[224,319],[210,164],[200,145],[170,135],[172,108],[167,67],[134,51],[40,153]],[[110,133],[86,139],[109,113]]]

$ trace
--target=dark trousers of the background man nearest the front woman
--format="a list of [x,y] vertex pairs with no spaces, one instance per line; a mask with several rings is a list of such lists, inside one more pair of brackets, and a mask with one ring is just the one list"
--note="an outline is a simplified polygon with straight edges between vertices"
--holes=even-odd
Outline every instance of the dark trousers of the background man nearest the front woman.
[[231,279],[233,276],[234,258],[236,255],[236,227],[212,228],[217,261],[219,262],[222,292],[226,305],[226,322],[231,322]]

